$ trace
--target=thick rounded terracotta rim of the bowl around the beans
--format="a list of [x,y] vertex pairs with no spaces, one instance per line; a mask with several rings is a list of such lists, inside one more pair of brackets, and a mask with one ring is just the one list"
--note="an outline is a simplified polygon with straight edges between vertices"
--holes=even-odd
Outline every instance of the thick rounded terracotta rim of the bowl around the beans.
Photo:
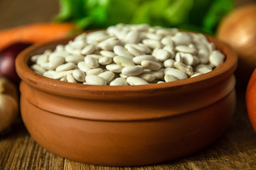
[[[90,32],[93,30],[89,30]],[[85,31],[89,32],[89,31]],[[177,86],[184,86],[188,84],[195,84],[201,81],[207,81],[208,79],[215,79],[216,77],[220,77],[220,75],[229,72],[233,74],[238,64],[238,56],[230,45],[227,43],[218,40],[217,38],[213,38],[210,35],[206,35],[206,38],[210,42],[215,44],[216,49],[220,50],[225,55],[225,62],[220,65],[220,67],[214,69],[212,72],[208,72],[206,74],[202,74],[197,77],[192,77],[188,79],[182,79],[178,81],[172,81],[162,84],[146,84],[146,85],[137,85],[137,86],[109,86],[109,85],[86,85],[86,84],[73,84],[65,81],[50,79],[48,77],[43,77],[40,74],[36,74],[32,69],[28,67],[28,60],[32,55],[36,55],[33,52],[36,50],[40,50],[46,46],[55,47],[56,44],[60,44],[63,42],[68,42],[68,40],[73,40],[73,37],[62,38],[59,40],[53,40],[50,42],[38,43],[36,45],[32,45],[31,47],[23,50],[18,57],[16,58],[16,72],[18,76],[21,77],[22,81],[25,81],[28,84],[38,88],[38,89],[47,89],[48,91],[53,91],[53,89],[59,89],[61,91],[65,91],[63,93],[72,94],[73,91],[99,91],[99,92],[138,92],[138,91],[149,91],[149,90],[157,90],[157,89],[170,89],[176,88]],[[65,44],[64,43],[64,44]],[[227,76],[227,77],[228,77]]]

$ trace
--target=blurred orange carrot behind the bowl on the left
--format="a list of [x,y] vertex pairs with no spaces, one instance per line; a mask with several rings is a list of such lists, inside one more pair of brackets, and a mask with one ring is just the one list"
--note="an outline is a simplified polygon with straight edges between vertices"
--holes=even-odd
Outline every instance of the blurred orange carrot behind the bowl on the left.
[[75,30],[73,23],[32,23],[0,30],[0,50],[14,42],[46,42],[68,36]]

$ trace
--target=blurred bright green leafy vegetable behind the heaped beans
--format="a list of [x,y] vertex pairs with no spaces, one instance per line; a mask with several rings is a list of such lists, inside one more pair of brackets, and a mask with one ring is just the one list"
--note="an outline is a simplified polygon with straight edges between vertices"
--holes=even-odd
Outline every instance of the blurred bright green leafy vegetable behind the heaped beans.
[[214,34],[235,0],[59,0],[55,21],[74,22],[83,29],[117,23],[149,23]]

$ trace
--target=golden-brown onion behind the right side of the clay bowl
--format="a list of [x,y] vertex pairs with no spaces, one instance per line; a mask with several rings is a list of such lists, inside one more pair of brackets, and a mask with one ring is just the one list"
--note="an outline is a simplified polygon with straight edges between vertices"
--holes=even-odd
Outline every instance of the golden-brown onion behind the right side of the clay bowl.
[[217,38],[238,52],[236,76],[247,83],[256,68],[256,4],[235,8],[220,22]]

